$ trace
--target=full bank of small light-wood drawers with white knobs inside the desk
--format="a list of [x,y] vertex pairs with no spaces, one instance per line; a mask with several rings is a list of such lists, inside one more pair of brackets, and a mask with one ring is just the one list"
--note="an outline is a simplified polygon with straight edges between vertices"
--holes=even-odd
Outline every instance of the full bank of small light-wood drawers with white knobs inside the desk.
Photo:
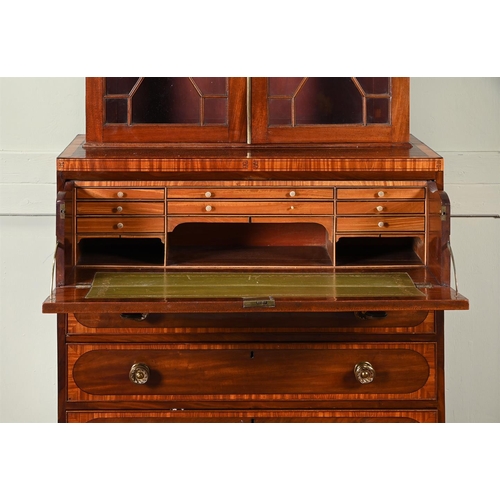
[[[374,188],[338,189],[339,199],[359,197],[373,198],[375,201],[338,201],[337,215],[357,217],[338,217],[337,230],[345,231],[423,231],[425,205],[423,188],[390,188],[385,191]],[[252,200],[248,201],[248,198]],[[77,204],[79,217],[79,233],[90,232],[139,232],[156,233],[164,231],[165,204],[163,201],[144,201],[163,199],[163,189],[130,188],[117,191],[112,188],[79,189],[77,198],[82,200]],[[279,197],[288,197],[290,201],[279,201]],[[333,201],[299,201],[295,199],[331,199],[333,189],[304,189],[303,191],[284,191],[279,189],[221,189],[203,191],[199,189],[174,188],[169,189],[168,201],[169,216],[193,215],[279,215],[279,216],[317,216],[333,215]],[[206,201],[198,201],[205,197]],[[212,197],[222,198],[223,201],[212,201]],[[231,200],[227,198],[231,197]],[[235,197],[247,201],[235,200]],[[254,201],[256,197],[265,201]],[[274,199],[270,199],[270,198]],[[278,200],[276,198],[278,197]],[[410,201],[380,201],[381,198],[394,200],[398,197],[410,198]],[[91,201],[96,199],[116,198],[116,201]],[[226,200],[224,201],[224,198]],[[413,198],[413,199],[411,199]],[[121,200],[132,201],[121,201]],[[83,201],[86,200],[86,201]],[[87,201],[88,200],[88,201]],[[178,200],[178,201],[177,201]],[[390,216],[391,214],[396,216]],[[420,214],[420,216],[409,216]],[[99,216],[118,216],[118,218],[92,218]],[[363,217],[366,215],[366,217]],[[373,215],[383,216],[374,220]],[[388,216],[389,215],[389,216]],[[132,216],[128,217],[127,216]],[[137,218],[135,216],[143,216]]]

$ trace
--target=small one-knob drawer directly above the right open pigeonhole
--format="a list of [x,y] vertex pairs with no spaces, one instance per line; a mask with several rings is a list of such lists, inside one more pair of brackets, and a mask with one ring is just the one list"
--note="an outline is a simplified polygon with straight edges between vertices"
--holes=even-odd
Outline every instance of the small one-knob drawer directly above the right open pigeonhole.
[[424,230],[424,217],[337,217],[338,232]]

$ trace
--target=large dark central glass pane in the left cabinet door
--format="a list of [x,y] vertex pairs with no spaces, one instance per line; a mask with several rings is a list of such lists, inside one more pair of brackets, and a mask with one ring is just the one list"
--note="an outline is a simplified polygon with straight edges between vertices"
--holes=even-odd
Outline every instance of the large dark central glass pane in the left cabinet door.
[[132,100],[132,122],[201,125],[200,107],[188,78],[144,78]]

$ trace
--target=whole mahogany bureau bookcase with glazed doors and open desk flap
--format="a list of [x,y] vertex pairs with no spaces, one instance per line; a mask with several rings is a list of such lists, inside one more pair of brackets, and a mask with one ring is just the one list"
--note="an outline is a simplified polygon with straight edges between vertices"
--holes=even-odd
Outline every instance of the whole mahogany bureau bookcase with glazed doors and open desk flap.
[[[450,203],[407,78],[88,78],[60,422],[444,422]],[[454,289],[455,288],[455,289]]]

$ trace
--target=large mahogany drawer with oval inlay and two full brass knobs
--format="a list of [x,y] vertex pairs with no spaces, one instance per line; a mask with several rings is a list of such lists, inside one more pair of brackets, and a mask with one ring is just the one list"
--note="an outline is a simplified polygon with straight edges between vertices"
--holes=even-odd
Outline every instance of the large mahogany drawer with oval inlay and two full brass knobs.
[[[376,374],[360,383],[356,365]],[[70,400],[422,399],[435,397],[425,344],[69,345]],[[146,383],[131,372],[147,367]],[[144,380],[144,377],[142,378]]]

